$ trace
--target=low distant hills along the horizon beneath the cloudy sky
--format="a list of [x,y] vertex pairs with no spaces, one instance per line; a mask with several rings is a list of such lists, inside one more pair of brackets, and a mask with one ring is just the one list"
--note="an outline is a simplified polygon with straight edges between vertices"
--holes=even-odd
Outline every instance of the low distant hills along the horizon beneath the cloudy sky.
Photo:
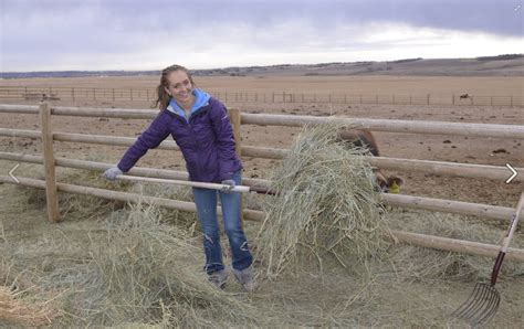
[[[262,75],[420,75],[420,76],[524,76],[524,55],[504,54],[475,59],[405,59],[388,62],[334,62],[319,64],[281,64],[269,66],[193,70],[200,76]],[[1,72],[0,78],[135,76],[160,71],[60,71]]]

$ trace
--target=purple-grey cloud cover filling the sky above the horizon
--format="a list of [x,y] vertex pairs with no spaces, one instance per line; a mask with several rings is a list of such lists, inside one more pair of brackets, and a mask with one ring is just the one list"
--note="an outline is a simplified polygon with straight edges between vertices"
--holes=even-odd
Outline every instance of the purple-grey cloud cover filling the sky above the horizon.
[[[101,66],[115,66],[163,50],[174,54],[228,47],[307,52],[399,44],[398,40],[381,44],[364,40],[374,24],[523,35],[522,10],[514,11],[516,2],[509,0],[0,0],[0,6],[2,71],[20,70],[23,63],[80,67],[96,64],[97,56]],[[103,62],[118,57],[120,63]]]

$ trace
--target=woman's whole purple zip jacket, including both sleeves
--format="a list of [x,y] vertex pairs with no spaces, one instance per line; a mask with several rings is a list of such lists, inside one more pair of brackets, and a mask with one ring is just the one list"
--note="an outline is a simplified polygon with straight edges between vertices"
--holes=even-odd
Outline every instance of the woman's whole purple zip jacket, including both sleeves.
[[118,168],[128,171],[142,156],[169,135],[180,147],[192,181],[221,182],[242,169],[234,150],[233,129],[227,109],[213,97],[191,114],[189,123],[172,112],[163,110],[127,149]]

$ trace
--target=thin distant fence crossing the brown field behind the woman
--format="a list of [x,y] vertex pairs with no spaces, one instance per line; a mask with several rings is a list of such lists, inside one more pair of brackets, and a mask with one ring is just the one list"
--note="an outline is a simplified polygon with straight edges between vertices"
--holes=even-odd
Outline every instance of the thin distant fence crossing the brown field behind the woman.
[[[224,103],[319,103],[319,104],[390,104],[390,105],[469,105],[523,107],[522,95],[386,95],[386,94],[308,94],[289,92],[209,91]],[[153,102],[155,89],[87,88],[87,87],[29,87],[0,86],[0,99],[14,100],[104,100]]]

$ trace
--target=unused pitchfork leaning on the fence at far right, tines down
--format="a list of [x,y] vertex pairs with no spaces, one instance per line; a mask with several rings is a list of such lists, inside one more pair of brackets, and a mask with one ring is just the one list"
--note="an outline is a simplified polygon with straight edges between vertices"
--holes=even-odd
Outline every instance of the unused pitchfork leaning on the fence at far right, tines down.
[[491,273],[491,282],[476,283],[473,294],[471,294],[470,298],[468,298],[468,300],[465,300],[457,310],[451,314],[451,316],[455,318],[468,321],[472,327],[486,323],[499,309],[501,295],[495,289],[496,277],[499,276],[502,261],[504,259],[507,247],[510,246],[510,241],[512,240],[516,224],[518,223],[523,204],[524,191],[521,194],[521,199],[518,200],[518,204],[516,206],[516,212],[513,214],[510,229],[506,232],[504,241],[502,242],[502,247],[499,252],[499,255],[496,256],[495,265],[493,266],[493,272]]

